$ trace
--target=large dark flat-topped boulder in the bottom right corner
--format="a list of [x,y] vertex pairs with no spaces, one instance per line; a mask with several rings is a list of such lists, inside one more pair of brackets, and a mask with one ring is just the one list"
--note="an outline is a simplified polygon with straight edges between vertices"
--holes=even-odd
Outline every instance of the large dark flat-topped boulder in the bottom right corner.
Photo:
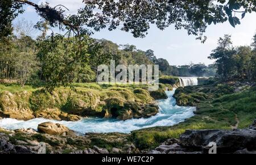
[[210,142],[216,143],[218,153],[234,153],[246,148],[255,150],[256,130],[186,130],[180,136],[179,145],[207,152]]

